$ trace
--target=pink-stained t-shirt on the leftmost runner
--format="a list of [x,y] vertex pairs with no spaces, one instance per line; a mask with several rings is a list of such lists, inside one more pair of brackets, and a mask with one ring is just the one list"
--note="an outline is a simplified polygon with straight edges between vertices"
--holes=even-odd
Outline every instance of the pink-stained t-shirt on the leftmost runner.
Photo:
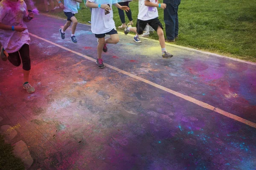
[[[7,5],[10,4],[11,6]],[[15,7],[17,7],[15,9]],[[27,28],[23,17],[27,17],[26,3],[23,0],[17,2],[5,1],[0,6],[0,23],[8,26],[22,26]],[[30,43],[29,31],[23,32],[0,29],[0,43],[7,53],[14,53],[20,50],[24,44]]]

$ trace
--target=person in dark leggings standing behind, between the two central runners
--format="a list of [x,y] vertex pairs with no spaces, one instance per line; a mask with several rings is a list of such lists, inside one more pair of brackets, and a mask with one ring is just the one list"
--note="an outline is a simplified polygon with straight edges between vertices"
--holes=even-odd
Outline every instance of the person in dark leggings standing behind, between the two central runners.
[[[132,0],[120,0],[119,5],[120,6],[128,6],[129,7],[129,3],[131,1]],[[128,19],[129,19],[130,23],[133,25],[132,16],[131,16],[131,9],[128,12],[125,11],[125,13],[124,13],[124,11],[122,9],[118,8],[118,13],[119,13],[120,20],[122,22],[122,25],[119,26],[118,28],[125,28],[126,27],[126,24],[125,24],[125,13],[126,13]]]

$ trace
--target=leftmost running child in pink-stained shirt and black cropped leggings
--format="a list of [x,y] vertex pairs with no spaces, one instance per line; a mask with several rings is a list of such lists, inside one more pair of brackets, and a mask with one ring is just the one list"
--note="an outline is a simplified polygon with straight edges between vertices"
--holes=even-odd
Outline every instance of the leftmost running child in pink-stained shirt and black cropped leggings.
[[[6,51],[8,60],[15,66],[23,65],[23,88],[28,93],[34,93],[35,88],[29,84],[30,57],[29,31],[26,22],[34,17],[28,12],[23,0],[2,0],[0,2],[0,44]],[[4,59],[3,60],[7,60]]]

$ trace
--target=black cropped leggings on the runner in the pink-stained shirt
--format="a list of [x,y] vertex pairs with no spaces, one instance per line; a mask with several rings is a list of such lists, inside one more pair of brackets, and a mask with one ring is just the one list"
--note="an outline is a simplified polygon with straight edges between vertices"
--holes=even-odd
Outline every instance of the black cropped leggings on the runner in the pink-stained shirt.
[[22,60],[22,68],[23,70],[29,71],[31,68],[30,65],[30,57],[29,57],[29,45],[24,44],[19,51],[14,53],[9,53],[8,60],[16,67],[20,65]]

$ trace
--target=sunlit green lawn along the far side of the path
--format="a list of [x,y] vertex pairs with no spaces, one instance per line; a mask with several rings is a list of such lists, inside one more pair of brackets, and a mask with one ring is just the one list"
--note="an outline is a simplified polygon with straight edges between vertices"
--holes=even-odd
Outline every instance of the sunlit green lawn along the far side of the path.
[[[43,4],[38,7],[44,10]],[[87,23],[90,21],[90,9],[83,3],[80,8],[76,17],[80,23]],[[130,8],[136,23],[138,0],[131,2]],[[182,0],[179,6],[179,40],[173,44],[256,62],[255,9],[255,0]],[[165,26],[163,10],[158,9],[158,12]],[[113,7],[113,13],[116,27],[120,26],[117,8]],[[63,12],[51,14],[65,17]],[[158,39],[155,32],[150,36]]]

